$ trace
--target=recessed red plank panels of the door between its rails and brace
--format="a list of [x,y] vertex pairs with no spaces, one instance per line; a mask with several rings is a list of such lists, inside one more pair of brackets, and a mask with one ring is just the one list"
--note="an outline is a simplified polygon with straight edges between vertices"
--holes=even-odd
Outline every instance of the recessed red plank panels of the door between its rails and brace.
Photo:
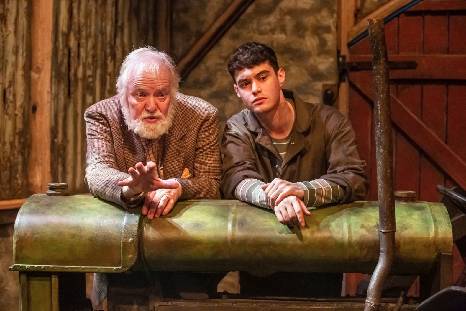
[[[385,25],[389,58],[390,55],[465,55],[464,40],[460,39],[466,35],[465,21],[465,11],[416,11],[414,6],[411,11],[399,15]],[[350,54],[370,54],[368,39],[352,46]],[[371,85],[369,71],[352,72],[350,80]],[[461,96],[466,92],[466,80],[394,79],[391,92],[466,161],[466,146],[461,142],[466,131],[466,110],[464,96]],[[367,199],[377,199],[372,108],[368,98],[355,88],[350,91],[349,98],[350,119],[355,127],[359,150],[368,161],[371,176],[371,190]],[[435,191],[436,184],[448,188],[456,185],[438,163],[398,128],[394,129],[393,140],[397,190],[417,191],[419,199],[438,202],[441,195]]]

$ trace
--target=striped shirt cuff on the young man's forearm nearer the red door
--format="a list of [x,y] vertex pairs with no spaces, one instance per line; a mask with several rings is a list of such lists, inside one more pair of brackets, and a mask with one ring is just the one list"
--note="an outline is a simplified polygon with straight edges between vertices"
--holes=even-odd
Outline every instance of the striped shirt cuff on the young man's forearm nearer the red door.
[[303,202],[307,207],[319,207],[340,202],[345,194],[342,187],[325,179],[314,179],[297,184],[304,191]]

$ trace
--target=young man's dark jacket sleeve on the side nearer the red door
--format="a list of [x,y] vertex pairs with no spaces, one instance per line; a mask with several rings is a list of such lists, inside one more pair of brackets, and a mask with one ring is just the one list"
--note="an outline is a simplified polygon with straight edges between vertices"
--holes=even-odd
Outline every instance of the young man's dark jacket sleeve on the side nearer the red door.
[[[337,118],[333,128],[326,128],[327,174],[321,178],[341,186],[345,195],[340,203],[363,200],[366,196],[369,182],[364,172],[366,163],[359,156],[356,148],[356,138],[353,128],[347,118],[336,112],[330,118]],[[338,120],[340,119],[340,120]],[[334,119],[335,120],[335,119]]]

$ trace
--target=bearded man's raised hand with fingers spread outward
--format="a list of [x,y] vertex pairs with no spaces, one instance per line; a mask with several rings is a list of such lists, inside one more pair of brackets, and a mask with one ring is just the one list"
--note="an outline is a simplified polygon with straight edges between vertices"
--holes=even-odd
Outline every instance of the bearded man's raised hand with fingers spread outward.
[[128,170],[130,177],[118,182],[118,185],[123,187],[124,198],[129,198],[143,191],[176,189],[179,186],[176,180],[162,180],[156,177],[157,166],[152,161],[149,161],[147,166],[139,162],[135,167]]

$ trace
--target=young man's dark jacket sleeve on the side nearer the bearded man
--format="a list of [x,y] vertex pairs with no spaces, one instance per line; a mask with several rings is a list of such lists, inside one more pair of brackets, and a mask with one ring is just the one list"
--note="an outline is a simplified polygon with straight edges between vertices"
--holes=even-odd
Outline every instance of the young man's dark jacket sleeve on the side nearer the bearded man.
[[236,186],[246,178],[264,181],[257,172],[253,144],[249,137],[240,133],[231,120],[226,121],[220,151],[223,156],[220,183],[225,198],[236,198]]

